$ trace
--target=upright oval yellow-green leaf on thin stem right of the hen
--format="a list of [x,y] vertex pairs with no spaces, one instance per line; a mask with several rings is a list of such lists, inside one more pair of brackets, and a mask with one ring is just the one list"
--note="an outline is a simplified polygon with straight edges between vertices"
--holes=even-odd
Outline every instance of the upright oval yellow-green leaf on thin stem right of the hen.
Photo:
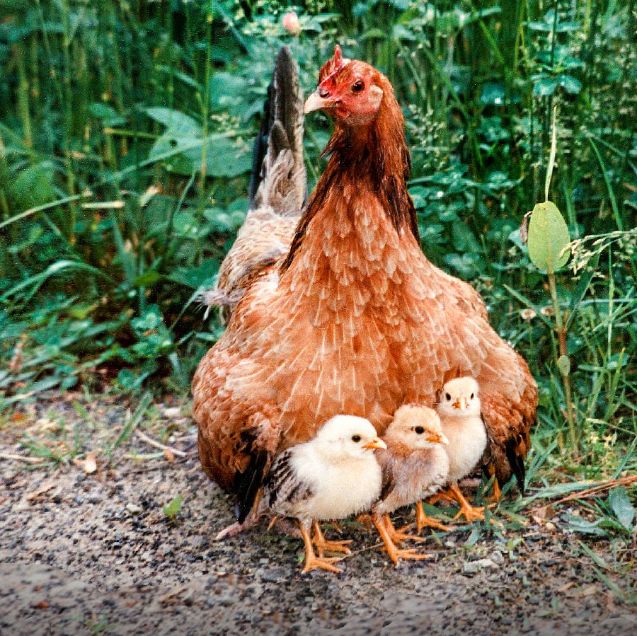
[[529,221],[529,258],[544,272],[556,272],[570,256],[570,233],[556,204],[538,203]]

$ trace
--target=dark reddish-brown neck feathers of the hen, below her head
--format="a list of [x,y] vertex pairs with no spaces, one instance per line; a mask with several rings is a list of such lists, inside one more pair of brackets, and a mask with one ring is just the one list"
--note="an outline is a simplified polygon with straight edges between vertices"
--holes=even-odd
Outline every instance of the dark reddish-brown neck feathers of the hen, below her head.
[[332,197],[338,200],[339,193],[349,184],[355,185],[359,192],[371,192],[381,202],[396,231],[407,226],[416,241],[420,241],[413,201],[407,190],[411,156],[405,140],[403,113],[389,80],[380,76],[379,83],[383,99],[371,124],[352,127],[336,122],[323,151],[323,156],[331,155],[330,160],[299,220],[282,272],[292,264],[310,221]]

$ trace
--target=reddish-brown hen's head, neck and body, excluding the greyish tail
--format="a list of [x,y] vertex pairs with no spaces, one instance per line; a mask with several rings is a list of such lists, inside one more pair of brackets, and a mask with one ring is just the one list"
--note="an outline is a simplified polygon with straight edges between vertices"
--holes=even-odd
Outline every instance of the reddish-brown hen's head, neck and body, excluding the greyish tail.
[[[193,379],[200,461],[248,514],[275,453],[338,413],[382,434],[405,403],[435,403],[451,378],[481,386],[491,461],[529,448],[537,388],[484,303],[420,250],[407,191],[403,115],[379,71],[336,47],[305,112],[335,119],[325,172],[280,265],[250,278]],[[265,175],[264,181],[268,180]]]

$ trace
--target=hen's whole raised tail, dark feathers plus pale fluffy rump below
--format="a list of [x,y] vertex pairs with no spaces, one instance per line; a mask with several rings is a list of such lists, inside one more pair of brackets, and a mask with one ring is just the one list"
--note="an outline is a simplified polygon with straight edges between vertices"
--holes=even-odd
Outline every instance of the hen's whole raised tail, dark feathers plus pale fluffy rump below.
[[299,76],[292,54],[282,47],[254,144],[248,215],[222,262],[217,287],[202,294],[202,303],[227,306],[232,313],[259,272],[287,255],[306,187]]

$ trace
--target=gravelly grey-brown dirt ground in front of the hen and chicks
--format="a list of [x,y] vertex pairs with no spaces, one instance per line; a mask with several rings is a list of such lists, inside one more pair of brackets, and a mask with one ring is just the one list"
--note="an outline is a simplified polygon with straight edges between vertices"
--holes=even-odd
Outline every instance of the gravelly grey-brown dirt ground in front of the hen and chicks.
[[[4,420],[0,634],[637,631],[634,608],[612,594],[558,518],[483,526],[477,540],[459,527],[420,544],[435,560],[400,567],[374,533],[343,525],[357,549],[338,576],[301,574],[300,541],[264,527],[216,543],[233,521],[231,502],[200,470],[187,413],[173,403],[139,416],[76,395]],[[47,449],[57,460],[45,467],[7,458]],[[168,519],[163,507],[177,495],[183,505]]]

